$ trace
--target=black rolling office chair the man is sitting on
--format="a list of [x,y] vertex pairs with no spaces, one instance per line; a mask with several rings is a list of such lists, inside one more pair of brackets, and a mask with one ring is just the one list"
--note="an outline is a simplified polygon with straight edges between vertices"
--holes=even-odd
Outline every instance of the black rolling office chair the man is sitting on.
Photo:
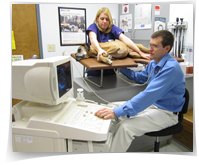
[[182,125],[182,121],[183,121],[183,114],[187,113],[187,109],[188,109],[188,103],[189,103],[189,91],[185,88],[185,103],[182,107],[182,111],[179,112],[178,114],[178,123],[176,125],[173,125],[171,127],[165,128],[163,130],[160,131],[156,131],[156,132],[148,132],[145,133],[145,135],[147,136],[156,136],[156,141],[154,144],[154,152],[159,152],[159,136],[168,136],[168,135],[172,135],[172,134],[177,134],[180,133],[183,130],[183,125]]

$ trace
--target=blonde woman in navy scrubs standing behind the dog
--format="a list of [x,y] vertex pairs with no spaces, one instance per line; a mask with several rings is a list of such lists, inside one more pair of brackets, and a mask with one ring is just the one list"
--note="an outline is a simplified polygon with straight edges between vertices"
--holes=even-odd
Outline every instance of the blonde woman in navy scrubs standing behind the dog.
[[[124,31],[113,24],[113,19],[108,8],[102,7],[98,10],[93,24],[86,30],[88,35],[88,43],[98,52],[98,57],[107,52],[100,48],[99,42],[109,42],[113,40],[121,40],[132,50],[138,52],[143,58],[150,59],[149,54],[141,52],[134,42],[126,37]],[[100,76],[101,71],[88,71],[88,76]],[[104,75],[114,74],[112,69],[104,70]]]

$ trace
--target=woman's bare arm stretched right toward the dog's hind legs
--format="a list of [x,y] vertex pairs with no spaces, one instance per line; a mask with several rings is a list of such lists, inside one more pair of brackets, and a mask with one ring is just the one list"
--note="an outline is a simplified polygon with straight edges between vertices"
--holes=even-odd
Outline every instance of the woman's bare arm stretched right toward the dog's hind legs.
[[123,33],[120,34],[119,39],[124,42],[129,48],[133,49],[137,53],[139,53],[143,58],[150,60],[150,54],[143,53],[136,45],[135,43],[130,40],[128,37],[126,37]]

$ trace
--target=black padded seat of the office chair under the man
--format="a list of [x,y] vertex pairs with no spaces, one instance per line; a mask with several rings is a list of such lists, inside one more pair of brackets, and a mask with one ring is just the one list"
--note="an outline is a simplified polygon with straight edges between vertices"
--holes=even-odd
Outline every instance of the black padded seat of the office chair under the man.
[[183,130],[182,123],[178,123],[174,126],[165,128],[165,129],[160,130],[160,131],[145,133],[145,135],[148,135],[148,136],[168,136],[168,135],[180,133],[182,130]]

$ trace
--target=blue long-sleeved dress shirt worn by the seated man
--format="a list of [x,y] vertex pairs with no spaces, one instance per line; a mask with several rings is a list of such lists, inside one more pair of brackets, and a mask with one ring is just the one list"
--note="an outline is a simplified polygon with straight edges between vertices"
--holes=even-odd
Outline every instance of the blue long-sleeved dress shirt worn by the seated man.
[[146,89],[122,106],[114,108],[116,117],[134,116],[150,105],[172,112],[182,110],[185,99],[185,77],[176,59],[168,53],[157,64],[152,60],[147,67],[136,72],[127,68],[120,72],[137,83],[145,83],[151,74]]

